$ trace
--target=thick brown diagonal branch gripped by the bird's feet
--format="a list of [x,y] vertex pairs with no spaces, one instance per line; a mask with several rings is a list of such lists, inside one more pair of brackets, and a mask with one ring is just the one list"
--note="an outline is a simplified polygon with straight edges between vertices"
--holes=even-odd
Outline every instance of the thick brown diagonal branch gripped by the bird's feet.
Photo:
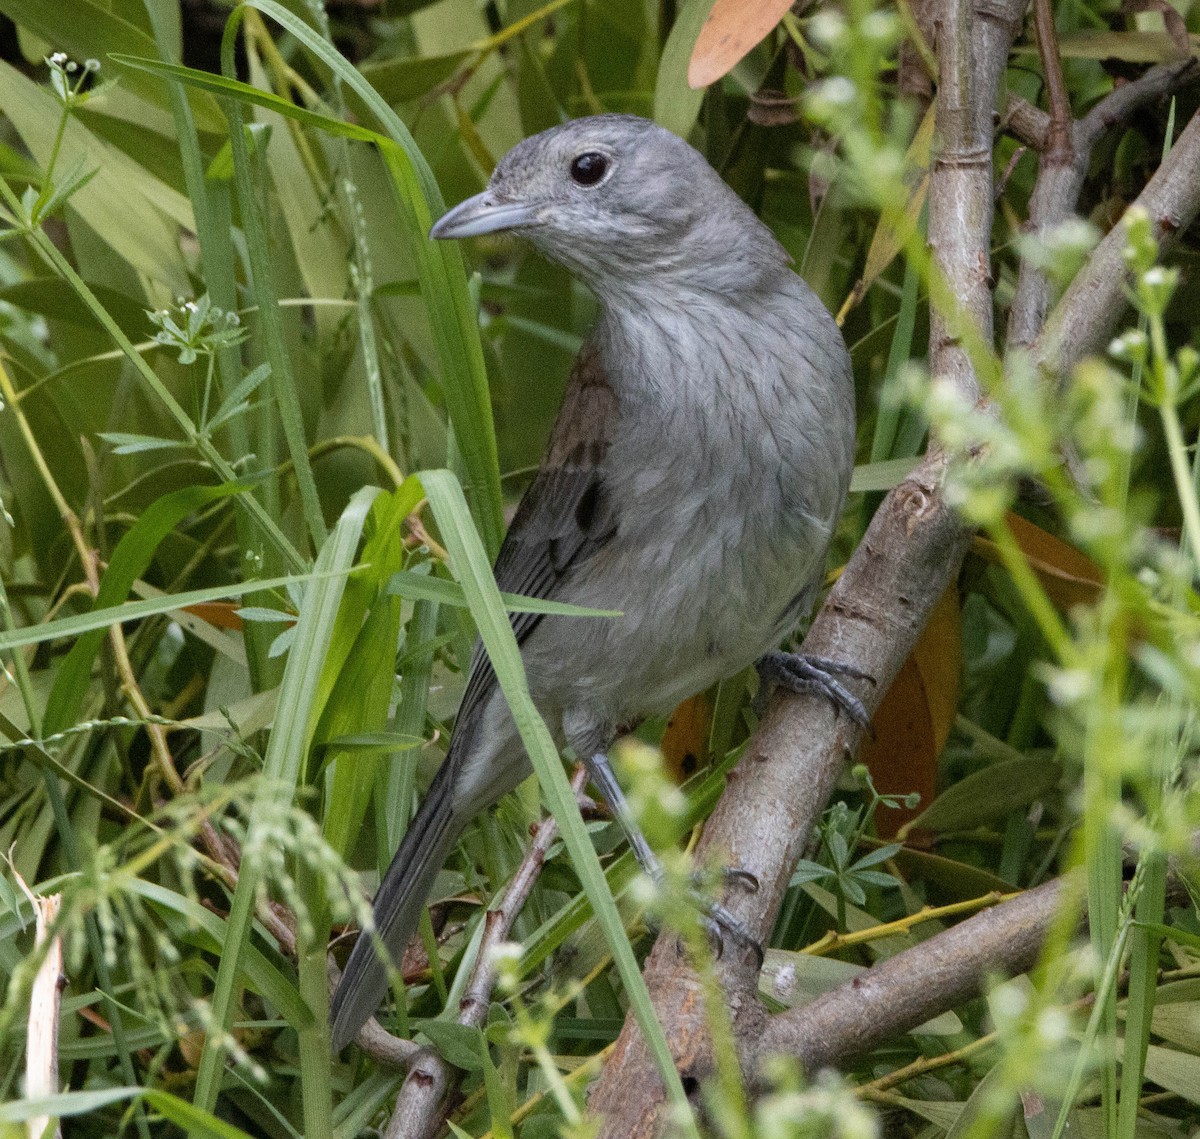
[[[805,652],[853,661],[876,678],[858,693],[870,711],[967,548],[968,534],[941,498],[941,476],[938,462],[926,463],[884,499],[804,642]],[[725,899],[755,936],[769,933],[796,859],[858,741],[854,725],[828,701],[781,697],[731,773],[696,855],[720,857],[758,880],[756,893],[734,891]],[[726,952],[718,972],[739,1041],[756,1038],[766,1013],[755,961]],[[710,1069],[708,1018],[700,982],[674,936],[659,939],[646,978],[680,1071],[703,1078]],[[662,1123],[662,1087],[628,1019],[589,1110],[605,1117],[605,1137],[648,1139]]]

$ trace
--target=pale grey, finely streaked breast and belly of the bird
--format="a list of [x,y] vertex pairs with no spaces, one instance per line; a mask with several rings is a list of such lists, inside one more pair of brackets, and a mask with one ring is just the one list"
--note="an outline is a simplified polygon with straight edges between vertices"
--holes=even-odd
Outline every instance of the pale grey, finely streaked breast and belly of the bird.
[[702,325],[650,326],[619,360],[610,346],[619,414],[600,474],[616,529],[560,595],[623,616],[571,622],[544,663],[527,647],[554,702],[670,711],[772,647],[823,570],[852,463],[848,370],[806,342],[768,350],[719,317]]

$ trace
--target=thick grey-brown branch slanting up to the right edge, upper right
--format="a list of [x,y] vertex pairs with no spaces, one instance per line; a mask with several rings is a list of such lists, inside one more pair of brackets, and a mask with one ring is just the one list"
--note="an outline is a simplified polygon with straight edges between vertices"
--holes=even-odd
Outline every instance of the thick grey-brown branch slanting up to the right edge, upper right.
[[[1150,215],[1160,251],[1195,220],[1200,212],[1200,113],[1192,116],[1134,205]],[[1124,244],[1122,221],[1096,247],[1046,320],[1032,347],[1038,366],[1062,374],[1104,348],[1127,306]]]

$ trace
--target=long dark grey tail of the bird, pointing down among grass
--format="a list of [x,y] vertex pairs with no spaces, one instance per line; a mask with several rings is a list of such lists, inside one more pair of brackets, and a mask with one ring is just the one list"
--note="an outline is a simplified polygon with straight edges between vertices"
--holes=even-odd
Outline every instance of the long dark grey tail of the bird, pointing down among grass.
[[[455,809],[456,765],[450,759],[433,778],[376,894],[376,930],[397,964],[416,931],[433,880],[462,833],[464,820]],[[334,1051],[341,1051],[358,1035],[386,991],[388,970],[374,939],[368,933],[359,934],[330,1009]]]

